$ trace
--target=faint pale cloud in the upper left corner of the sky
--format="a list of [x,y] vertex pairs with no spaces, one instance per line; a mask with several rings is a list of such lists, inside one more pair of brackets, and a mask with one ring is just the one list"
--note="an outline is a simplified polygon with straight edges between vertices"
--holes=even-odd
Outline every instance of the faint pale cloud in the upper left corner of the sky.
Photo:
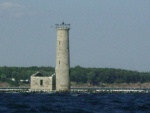
[[0,3],[0,15],[13,17],[23,16],[23,6],[13,2]]

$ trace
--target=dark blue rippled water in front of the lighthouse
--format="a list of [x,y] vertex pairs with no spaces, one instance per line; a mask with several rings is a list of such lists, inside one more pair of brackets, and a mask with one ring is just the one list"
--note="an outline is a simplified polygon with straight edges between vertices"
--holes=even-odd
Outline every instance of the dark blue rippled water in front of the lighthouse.
[[0,113],[150,113],[150,94],[0,93]]

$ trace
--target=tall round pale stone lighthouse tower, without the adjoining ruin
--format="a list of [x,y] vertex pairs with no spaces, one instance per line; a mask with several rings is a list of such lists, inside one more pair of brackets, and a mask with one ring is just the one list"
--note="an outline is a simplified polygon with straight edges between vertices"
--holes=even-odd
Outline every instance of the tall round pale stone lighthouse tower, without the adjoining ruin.
[[70,90],[70,55],[69,55],[69,30],[70,24],[56,24],[56,91]]

